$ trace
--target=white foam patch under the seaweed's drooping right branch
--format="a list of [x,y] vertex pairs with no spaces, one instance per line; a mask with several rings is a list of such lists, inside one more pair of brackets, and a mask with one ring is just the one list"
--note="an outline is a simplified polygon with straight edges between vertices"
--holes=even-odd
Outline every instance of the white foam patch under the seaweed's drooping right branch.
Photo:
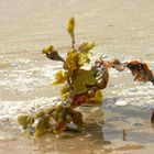
[[151,82],[123,84],[123,86],[117,86],[111,92],[118,98],[116,106],[154,108],[154,86]]

